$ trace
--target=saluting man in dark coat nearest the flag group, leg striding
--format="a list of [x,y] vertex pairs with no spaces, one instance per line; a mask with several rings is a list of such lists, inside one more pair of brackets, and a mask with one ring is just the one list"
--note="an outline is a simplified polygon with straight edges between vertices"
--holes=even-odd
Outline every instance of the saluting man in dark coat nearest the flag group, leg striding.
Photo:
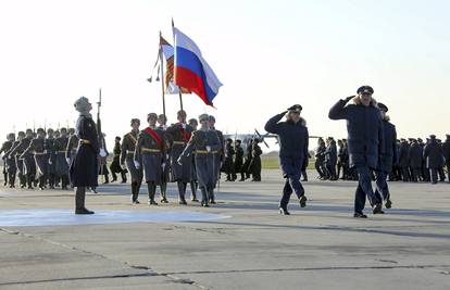
[[[278,135],[279,163],[283,177],[286,178],[283,198],[279,202],[279,213],[283,215],[289,215],[287,206],[292,191],[296,192],[300,206],[307,206],[307,197],[300,177],[309,156],[309,134],[308,128],[301,122],[301,105],[292,105],[268,119],[264,127],[266,131]],[[280,122],[285,115],[286,122]]]

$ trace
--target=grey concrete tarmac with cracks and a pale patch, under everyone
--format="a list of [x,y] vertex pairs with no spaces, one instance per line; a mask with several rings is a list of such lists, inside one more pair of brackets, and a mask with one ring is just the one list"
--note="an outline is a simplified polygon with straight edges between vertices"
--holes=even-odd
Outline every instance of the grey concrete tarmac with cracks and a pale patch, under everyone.
[[450,289],[450,185],[390,182],[393,209],[355,219],[353,181],[311,172],[280,216],[280,172],[262,178],[210,209],[102,186],[79,218],[72,191],[0,188],[0,289]]

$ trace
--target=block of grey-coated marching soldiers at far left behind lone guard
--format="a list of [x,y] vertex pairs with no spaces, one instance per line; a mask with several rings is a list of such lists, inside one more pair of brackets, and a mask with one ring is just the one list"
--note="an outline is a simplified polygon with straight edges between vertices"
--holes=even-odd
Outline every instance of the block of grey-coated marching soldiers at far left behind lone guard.
[[21,188],[39,189],[60,187],[67,189],[68,165],[73,159],[78,139],[75,129],[61,128],[36,131],[11,133],[3,142],[4,186],[15,188],[16,179]]

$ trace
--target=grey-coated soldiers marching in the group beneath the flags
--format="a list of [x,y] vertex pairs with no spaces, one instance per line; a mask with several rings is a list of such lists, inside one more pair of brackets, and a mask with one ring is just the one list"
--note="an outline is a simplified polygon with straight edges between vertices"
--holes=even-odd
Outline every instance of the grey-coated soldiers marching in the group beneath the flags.
[[182,110],[177,113],[177,121],[167,126],[165,115],[150,113],[148,126],[141,130],[140,121],[133,118],[132,130],[122,138],[120,148],[116,143],[113,165],[129,172],[133,204],[140,203],[138,196],[142,181],[147,184],[150,205],[158,205],[158,187],[160,202],[168,203],[166,191],[171,181],[177,184],[179,204],[187,204],[188,185],[191,187],[191,201],[199,201],[199,188],[202,206],[216,203],[214,190],[218,186],[225,156],[223,134],[215,129],[214,116],[202,114],[199,121],[192,118],[187,122],[186,112]]

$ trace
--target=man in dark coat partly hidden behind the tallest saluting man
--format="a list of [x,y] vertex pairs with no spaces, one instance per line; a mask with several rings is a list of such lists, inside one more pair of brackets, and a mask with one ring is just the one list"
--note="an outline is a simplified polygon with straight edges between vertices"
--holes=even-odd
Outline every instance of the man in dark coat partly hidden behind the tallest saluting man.
[[379,155],[378,168],[375,172],[377,188],[375,194],[377,194],[379,200],[383,199],[386,201],[386,209],[390,209],[392,206],[392,202],[390,200],[389,187],[386,180],[392,172],[392,165],[397,163],[397,130],[396,126],[389,122],[389,116],[386,115],[389,109],[383,103],[378,103],[378,108],[379,111],[382,111],[383,116],[383,140],[385,143],[385,153]]

